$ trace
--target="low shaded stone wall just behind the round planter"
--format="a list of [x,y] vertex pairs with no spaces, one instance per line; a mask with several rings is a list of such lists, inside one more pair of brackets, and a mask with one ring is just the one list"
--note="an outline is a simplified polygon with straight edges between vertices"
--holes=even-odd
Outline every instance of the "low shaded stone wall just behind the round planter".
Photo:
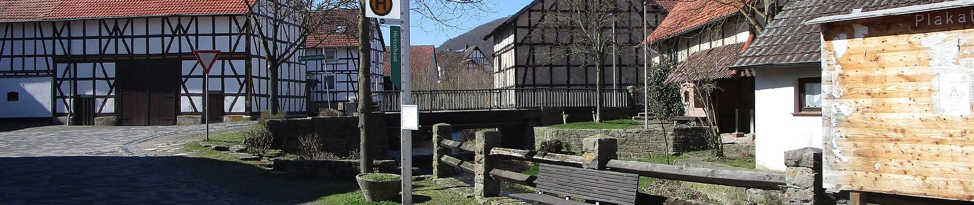
[[[275,158],[274,170],[302,177],[329,179],[351,179],[358,174],[358,160],[292,160]],[[375,160],[375,169],[382,173],[398,173],[399,165],[394,160]]]

